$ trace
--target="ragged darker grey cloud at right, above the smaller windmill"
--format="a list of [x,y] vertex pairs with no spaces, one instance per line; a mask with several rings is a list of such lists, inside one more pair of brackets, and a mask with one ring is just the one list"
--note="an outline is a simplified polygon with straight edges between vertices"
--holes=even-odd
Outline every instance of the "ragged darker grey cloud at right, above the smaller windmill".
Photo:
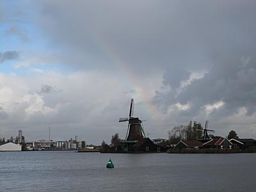
[[219,62],[202,79],[193,81],[182,92],[157,93],[156,99],[159,103],[164,101],[164,105],[167,102],[167,106],[177,102],[190,103],[191,108],[183,113],[191,116],[198,115],[205,105],[214,104],[220,100],[225,102],[223,108],[215,112],[220,116],[232,115],[243,107],[247,109],[247,115],[252,115],[255,113],[256,103],[255,58],[242,68],[243,64],[239,58],[234,63]]

